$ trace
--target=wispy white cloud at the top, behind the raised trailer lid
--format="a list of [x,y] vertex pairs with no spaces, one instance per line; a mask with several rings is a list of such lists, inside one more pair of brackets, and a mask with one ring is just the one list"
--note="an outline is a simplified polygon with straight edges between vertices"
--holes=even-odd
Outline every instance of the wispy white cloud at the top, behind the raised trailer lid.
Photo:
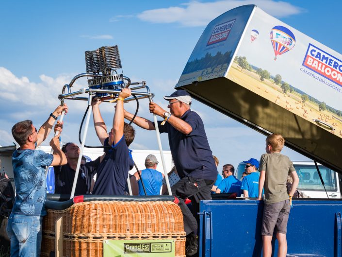
[[256,4],[266,13],[281,18],[304,10],[291,3],[275,0],[221,0],[216,2],[191,1],[182,7],[152,9],[138,14],[138,18],[152,23],[179,23],[185,27],[206,26],[222,13],[245,4]]

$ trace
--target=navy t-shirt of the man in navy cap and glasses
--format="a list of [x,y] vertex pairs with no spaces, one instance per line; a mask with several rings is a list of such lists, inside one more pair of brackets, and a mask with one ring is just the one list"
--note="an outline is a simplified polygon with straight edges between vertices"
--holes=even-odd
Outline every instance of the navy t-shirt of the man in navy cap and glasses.
[[189,135],[179,132],[168,122],[161,125],[162,121],[158,121],[160,133],[168,133],[170,150],[179,177],[215,180],[218,171],[202,119],[191,110],[187,110],[180,119],[192,127]]

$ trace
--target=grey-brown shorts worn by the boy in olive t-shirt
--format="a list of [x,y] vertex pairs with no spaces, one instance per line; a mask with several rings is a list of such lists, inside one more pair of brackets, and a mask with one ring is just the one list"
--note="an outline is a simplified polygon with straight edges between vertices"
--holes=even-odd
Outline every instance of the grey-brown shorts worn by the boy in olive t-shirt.
[[265,205],[262,215],[261,235],[272,236],[275,228],[277,233],[286,234],[290,209],[290,200]]

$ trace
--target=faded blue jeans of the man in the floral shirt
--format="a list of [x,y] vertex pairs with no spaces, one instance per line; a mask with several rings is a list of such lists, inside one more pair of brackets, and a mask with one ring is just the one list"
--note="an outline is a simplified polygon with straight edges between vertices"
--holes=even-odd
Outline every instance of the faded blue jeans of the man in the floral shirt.
[[42,221],[40,216],[10,215],[7,235],[11,240],[11,257],[40,256]]

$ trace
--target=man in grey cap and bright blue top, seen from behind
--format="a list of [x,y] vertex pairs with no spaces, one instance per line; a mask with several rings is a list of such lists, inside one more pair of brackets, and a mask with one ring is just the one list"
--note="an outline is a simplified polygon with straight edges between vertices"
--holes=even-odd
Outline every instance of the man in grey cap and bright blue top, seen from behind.
[[148,154],[145,159],[146,169],[139,171],[141,179],[138,171],[134,173],[134,176],[138,181],[139,195],[160,195],[164,174],[156,170],[158,163],[155,155]]

